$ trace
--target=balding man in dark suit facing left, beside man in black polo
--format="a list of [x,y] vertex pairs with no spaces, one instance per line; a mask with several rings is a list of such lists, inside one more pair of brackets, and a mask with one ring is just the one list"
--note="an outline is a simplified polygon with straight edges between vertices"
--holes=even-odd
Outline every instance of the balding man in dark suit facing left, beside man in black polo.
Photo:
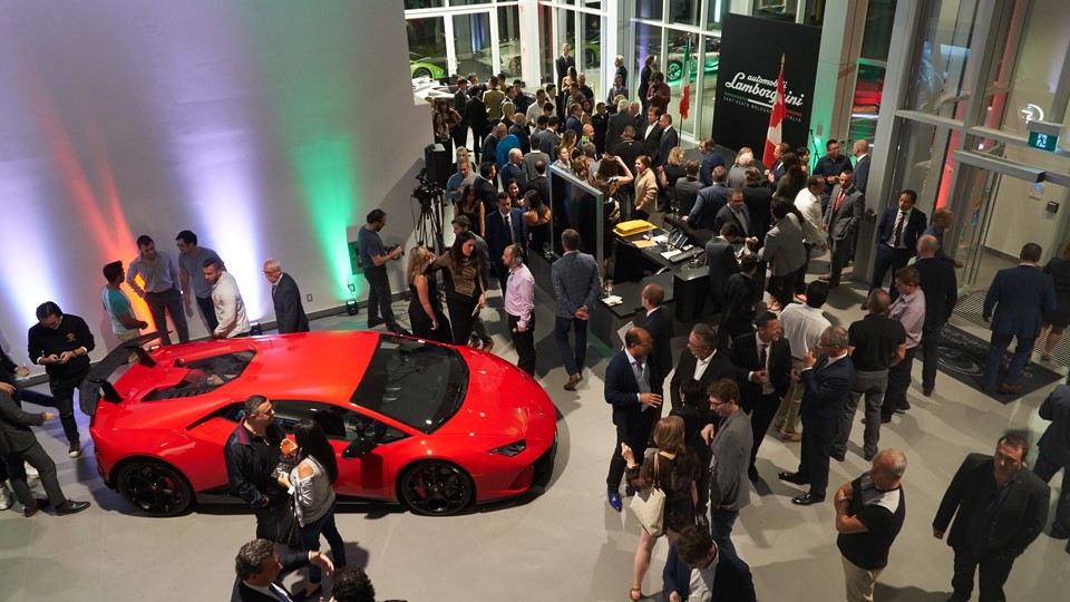
[[825,501],[828,487],[828,458],[836,437],[836,425],[844,412],[847,395],[855,383],[855,367],[847,355],[847,331],[829,327],[821,332],[820,358],[809,351],[802,360],[802,457],[795,473],[779,473],[780,480],[809,484],[810,491],[792,497],[791,503],[809,506]]

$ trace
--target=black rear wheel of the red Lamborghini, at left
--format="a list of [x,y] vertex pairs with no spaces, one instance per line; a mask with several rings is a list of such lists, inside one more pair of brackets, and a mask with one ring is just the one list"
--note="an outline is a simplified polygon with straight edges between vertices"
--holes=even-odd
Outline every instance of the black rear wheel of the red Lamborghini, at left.
[[186,477],[158,460],[132,460],[119,470],[116,483],[123,497],[152,516],[175,516],[193,504]]

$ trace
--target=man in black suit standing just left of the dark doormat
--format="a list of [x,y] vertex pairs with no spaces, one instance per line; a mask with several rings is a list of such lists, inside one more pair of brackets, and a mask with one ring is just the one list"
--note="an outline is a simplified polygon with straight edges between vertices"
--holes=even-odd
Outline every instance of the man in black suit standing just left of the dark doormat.
[[925,324],[922,327],[922,395],[933,395],[936,387],[936,363],[940,359],[940,338],[944,324],[959,302],[959,282],[954,264],[936,259],[940,243],[932,235],[917,240],[917,260],[914,269],[925,293]]

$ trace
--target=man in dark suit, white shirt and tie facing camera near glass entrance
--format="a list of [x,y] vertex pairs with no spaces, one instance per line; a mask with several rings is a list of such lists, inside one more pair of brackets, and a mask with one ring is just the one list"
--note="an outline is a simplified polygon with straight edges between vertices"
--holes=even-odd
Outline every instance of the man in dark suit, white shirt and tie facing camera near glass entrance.
[[[857,186],[855,190],[858,190]],[[860,191],[859,191],[860,192]],[[917,203],[917,193],[911,190],[899,193],[897,207],[888,207],[881,217],[877,225],[876,252],[873,259],[873,280],[869,281],[869,290],[883,289],[884,278],[888,270],[893,274],[906,264],[914,256],[917,250],[917,239],[925,231],[928,220],[925,214],[914,208]],[[894,284],[894,282],[893,282]],[[892,287],[889,293],[892,301],[899,295],[899,291]],[[862,304],[865,311],[866,304]]]

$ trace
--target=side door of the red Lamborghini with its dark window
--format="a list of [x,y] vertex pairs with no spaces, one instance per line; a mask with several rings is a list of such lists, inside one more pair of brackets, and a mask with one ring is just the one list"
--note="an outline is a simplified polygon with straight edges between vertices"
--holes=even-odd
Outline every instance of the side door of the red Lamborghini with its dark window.
[[[339,495],[371,499],[395,498],[393,483],[388,477],[388,445],[408,437],[401,430],[359,411],[324,401],[273,399],[275,421],[286,433],[293,433],[298,420],[313,420],[323,427],[338,458]],[[343,457],[342,452],[358,441],[373,440],[376,447],[357,457]]]

